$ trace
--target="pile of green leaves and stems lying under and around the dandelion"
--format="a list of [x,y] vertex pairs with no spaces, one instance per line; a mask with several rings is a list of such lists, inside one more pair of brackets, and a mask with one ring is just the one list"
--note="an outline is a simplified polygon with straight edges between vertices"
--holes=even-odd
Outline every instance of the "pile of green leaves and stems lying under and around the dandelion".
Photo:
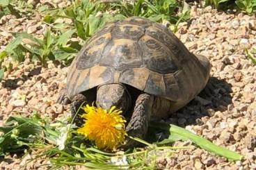
[[47,156],[53,163],[53,168],[63,165],[81,165],[97,169],[143,169],[145,167],[156,169],[155,162],[159,154],[170,157],[175,149],[189,148],[172,147],[170,146],[172,142],[191,140],[200,148],[222,155],[229,160],[241,160],[242,158],[238,153],[216,146],[189,130],[158,122],[151,122],[150,126],[161,128],[171,134],[162,142],[150,144],[142,139],[130,137],[144,144],[145,148],[134,148],[134,150],[117,153],[99,150],[93,143],[79,135],[76,126],[72,124],[73,120],[71,124],[70,121],[70,117],[65,117],[51,124],[48,119],[40,117],[37,112],[34,112],[31,117],[9,117],[6,124],[0,127],[3,133],[0,137],[0,155],[36,151],[38,155],[35,155],[33,159]]

